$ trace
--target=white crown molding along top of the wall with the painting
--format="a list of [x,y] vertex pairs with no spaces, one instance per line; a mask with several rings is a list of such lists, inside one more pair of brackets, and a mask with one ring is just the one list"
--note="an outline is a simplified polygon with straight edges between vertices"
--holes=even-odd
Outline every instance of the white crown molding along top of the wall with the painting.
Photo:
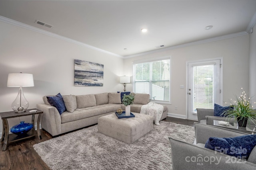
[[3,17],[3,16],[0,16],[0,21],[3,21],[3,22],[6,22],[6,23],[10,23],[12,25],[16,25],[18,27],[22,27],[22,28],[25,28],[25,29],[29,29],[31,31],[35,31],[35,32],[38,32],[38,33],[42,33],[42,34],[45,34],[45,35],[49,35],[51,37],[55,37],[55,38],[58,38],[58,39],[61,39],[61,40],[64,40],[64,41],[68,41],[70,43],[74,43],[74,44],[77,44],[77,45],[81,45],[83,47],[87,47],[87,48],[90,48],[90,49],[94,49],[96,51],[100,51],[102,53],[106,53],[106,54],[109,54],[109,55],[113,55],[113,56],[116,56],[116,57],[120,57],[120,58],[124,58],[123,56],[121,55],[118,55],[118,54],[115,54],[115,53],[111,53],[109,51],[106,51],[106,50],[103,50],[103,49],[99,49],[97,47],[94,47],[92,45],[88,45],[86,43],[82,43],[80,41],[76,41],[74,39],[70,39],[70,38],[67,38],[67,37],[64,37],[64,36],[61,36],[61,35],[58,35],[56,33],[51,33],[49,31],[45,31],[43,29],[40,29],[40,28],[37,28],[37,27],[33,27],[31,25],[27,25],[25,23],[21,23],[21,22],[18,22],[18,21],[15,21],[15,20],[11,20],[10,18],[6,18],[6,17]]

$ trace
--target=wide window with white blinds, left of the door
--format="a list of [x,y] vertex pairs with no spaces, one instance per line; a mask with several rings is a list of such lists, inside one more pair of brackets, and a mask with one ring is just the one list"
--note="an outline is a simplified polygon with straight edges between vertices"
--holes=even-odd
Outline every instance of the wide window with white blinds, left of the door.
[[170,102],[170,58],[133,64],[133,92],[150,94],[155,102]]

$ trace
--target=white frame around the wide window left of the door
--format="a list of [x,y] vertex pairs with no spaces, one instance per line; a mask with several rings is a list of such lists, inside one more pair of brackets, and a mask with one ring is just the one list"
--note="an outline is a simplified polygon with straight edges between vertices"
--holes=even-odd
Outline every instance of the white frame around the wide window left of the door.
[[[134,69],[134,64],[141,64],[141,63],[148,63],[148,62],[153,62],[153,61],[160,61],[160,60],[170,60],[170,81],[169,81],[169,102],[164,102],[164,101],[157,101],[157,100],[150,100],[152,102],[155,102],[155,103],[159,103],[159,104],[171,104],[171,72],[172,72],[172,60],[171,60],[171,57],[168,56],[168,57],[159,57],[159,58],[154,58],[154,59],[148,59],[148,60],[140,60],[140,61],[134,61],[132,63],[132,69]],[[134,70],[133,70],[133,74],[134,74]],[[133,75],[134,77],[134,75]],[[132,80],[132,85],[133,85],[133,82],[134,80]],[[134,89],[134,87],[133,87]]]

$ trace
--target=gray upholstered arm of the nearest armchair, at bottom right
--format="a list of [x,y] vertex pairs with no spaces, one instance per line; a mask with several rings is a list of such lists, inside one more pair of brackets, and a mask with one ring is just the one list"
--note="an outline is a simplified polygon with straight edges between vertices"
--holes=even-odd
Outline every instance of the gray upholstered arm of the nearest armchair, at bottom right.
[[173,170],[252,170],[256,164],[169,137]]

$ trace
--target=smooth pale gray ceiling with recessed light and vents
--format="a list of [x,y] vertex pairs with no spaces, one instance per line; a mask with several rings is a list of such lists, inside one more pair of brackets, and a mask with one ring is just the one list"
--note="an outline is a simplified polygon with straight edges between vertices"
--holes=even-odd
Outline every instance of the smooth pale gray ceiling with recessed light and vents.
[[255,12],[256,0],[0,1],[0,16],[123,57],[246,31]]

